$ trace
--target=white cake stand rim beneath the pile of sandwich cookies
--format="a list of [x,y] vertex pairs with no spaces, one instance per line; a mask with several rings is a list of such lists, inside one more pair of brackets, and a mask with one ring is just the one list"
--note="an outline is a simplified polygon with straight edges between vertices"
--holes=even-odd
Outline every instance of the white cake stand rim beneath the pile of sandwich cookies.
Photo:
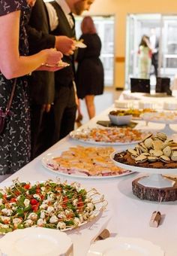
[[114,160],[115,154],[120,153],[120,151],[115,151],[110,155],[111,160],[113,160],[113,163],[115,163],[116,166],[121,167],[123,169],[130,169],[130,171],[133,172],[144,172],[148,174],[176,174],[177,169],[157,169],[157,168],[145,168],[145,167],[139,167],[139,166],[130,166],[124,163],[120,163]]

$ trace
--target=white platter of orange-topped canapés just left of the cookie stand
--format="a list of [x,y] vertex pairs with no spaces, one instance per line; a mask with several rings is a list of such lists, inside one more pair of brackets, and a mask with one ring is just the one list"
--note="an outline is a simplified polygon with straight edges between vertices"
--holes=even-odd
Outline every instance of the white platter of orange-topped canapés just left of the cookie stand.
[[115,166],[110,160],[114,151],[111,147],[86,148],[78,145],[46,154],[41,162],[49,172],[76,178],[115,178],[133,173]]

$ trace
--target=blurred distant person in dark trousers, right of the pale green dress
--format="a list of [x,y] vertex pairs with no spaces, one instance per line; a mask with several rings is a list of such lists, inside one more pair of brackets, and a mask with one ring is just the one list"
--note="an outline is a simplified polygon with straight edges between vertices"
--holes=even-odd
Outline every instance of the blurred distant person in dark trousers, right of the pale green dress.
[[157,78],[159,40],[157,38],[156,30],[154,28],[151,28],[151,35],[150,35],[149,41],[151,44],[151,65],[154,66],[154,75]]

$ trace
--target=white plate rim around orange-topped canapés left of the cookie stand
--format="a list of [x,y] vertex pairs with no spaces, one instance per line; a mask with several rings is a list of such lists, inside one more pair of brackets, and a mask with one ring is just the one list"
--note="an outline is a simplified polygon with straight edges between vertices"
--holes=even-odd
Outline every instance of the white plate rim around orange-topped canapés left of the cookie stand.
[[[68,149],[67,149],[68,150]],[[62,154],[62,151],[65,151],[64,149],[58,150],[58,151],[53,151],[51,153],[46,154],[42,159],[41,159],[41,163],[42,165],[49,170],[49,172],[53,172],[55,173],[55,175],[63,175],[65,177],[71,176],[71,177],[76,177],[76,178],[84,178],[84,179],[105,179],[105,178],[118,178],[118,177],[122,177],[124,175],[130,175],[133,172],[124,172],[122,174],[119,175],[108,175],[108,176],[88,176],[84,173],[82,173],[81,171],[79,172],[75,172],[70,174],[69,171],[63,171],[62,169],[57,169],[57,163],[55,162],[55,160],[53,160],[53,158],[58,157]]]

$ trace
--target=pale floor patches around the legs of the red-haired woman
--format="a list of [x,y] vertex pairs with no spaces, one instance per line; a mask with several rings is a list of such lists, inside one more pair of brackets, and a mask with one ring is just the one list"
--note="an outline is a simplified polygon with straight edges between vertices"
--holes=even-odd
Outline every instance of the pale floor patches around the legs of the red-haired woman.
[[[121,90],[115,90],[114,88],[105,88],[104,94],[95,96],[95,108],[96,108],[96,114],[100,114],[101,111],[104,111],[104,109],[110,107],[110,105],[113,104],[115,99],[118,99],[118,96],[120,95]],[[81,110],[83,113],[83,120],[81,123],[76,123],[76,128],[80,126],[83,123],[86,123],[89,121],[89,116],[86,109],[86,104],[84,100],[81,100]]]

